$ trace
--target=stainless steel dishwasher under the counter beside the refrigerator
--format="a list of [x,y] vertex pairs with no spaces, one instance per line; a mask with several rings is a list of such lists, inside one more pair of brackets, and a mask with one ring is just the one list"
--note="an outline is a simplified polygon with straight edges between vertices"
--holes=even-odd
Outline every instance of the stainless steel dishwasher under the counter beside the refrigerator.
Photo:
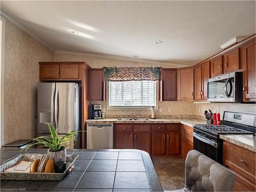
[[88,123],[87,148],[113,148],[113,129],[112,123]]

